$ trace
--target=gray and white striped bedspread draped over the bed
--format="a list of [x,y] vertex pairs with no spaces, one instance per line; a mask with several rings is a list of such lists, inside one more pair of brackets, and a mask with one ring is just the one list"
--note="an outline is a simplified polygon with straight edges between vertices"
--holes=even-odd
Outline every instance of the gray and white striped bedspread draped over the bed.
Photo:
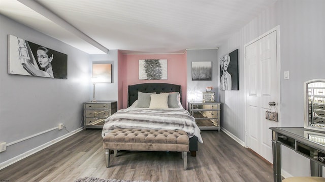
[[131,106],[121,109],[105,120],[102,136],[116,128],[179,129],[187,132],[189,138],[197,136],[198,141],[203,143],[195,119],[182,107],[149,109]]

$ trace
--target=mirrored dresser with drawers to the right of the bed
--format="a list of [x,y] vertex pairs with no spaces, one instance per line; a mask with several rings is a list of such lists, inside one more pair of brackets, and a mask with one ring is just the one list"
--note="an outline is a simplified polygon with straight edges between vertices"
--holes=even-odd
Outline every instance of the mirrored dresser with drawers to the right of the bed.
[[218,102],[188,102],[188,111],[202,130],[220,131],[220,104]]

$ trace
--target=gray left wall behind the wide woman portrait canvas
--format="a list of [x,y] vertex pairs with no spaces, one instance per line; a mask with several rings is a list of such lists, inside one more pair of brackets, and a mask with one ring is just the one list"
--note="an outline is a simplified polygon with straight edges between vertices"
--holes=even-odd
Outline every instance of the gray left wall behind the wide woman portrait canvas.
[[[11,143],[58,123],[72,131],[82,127],[82,103],[91,92],[89,55],[2,15],[0,24],[0,142]],[[8,74],[8,34],[67,54],[68,79]],[[67,133],[55,129],[8,146],[0,153],[0,164]]]

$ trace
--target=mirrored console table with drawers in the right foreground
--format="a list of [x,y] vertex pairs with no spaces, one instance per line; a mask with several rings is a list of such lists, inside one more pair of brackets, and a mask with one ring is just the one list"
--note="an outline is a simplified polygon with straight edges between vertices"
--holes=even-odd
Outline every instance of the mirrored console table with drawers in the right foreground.
[[270,127],[272,130],[273,179],[281,181],[281,145],[310,159],[311,176],[321,176],[325,166],[325,132],[304,127]]

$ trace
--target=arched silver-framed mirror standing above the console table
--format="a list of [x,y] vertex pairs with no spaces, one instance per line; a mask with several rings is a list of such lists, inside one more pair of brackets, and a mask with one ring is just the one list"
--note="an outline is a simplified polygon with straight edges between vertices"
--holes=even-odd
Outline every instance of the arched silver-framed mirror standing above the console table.
[[325,131],[325,79],[304,83],[304,128]]

